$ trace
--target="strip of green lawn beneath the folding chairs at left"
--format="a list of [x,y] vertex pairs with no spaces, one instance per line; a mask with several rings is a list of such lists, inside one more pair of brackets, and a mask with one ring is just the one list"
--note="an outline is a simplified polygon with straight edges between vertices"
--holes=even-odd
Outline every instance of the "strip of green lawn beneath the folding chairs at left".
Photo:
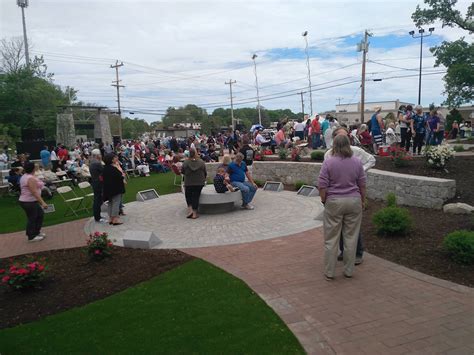
[[[135,201],[135,195],[138,191],[146,189],[155,189],[159,195],[166,195],[172,192],[179,191],[179,188],[173,185],[174,175],[169,172],[166,174],[151,174],[149,177],[131,178],[125,187],[125,202]],[[77,189],[79,191],[79,189]],[[91,191],[89,191],[91,192]],[[80,192],[77,192],[80,195]],[[92,216],[92,201],[89,200],[91,208],[90,213],[83,212],[79,217],[69,216],[64,217],[66,206],[61,199],[61,196],[55,194],[51,200],[46,203],[54,204],[56,212],[48,213],[44,218],[44,226],[64,223],[78,218]],[[4,196],[0,197],[0,216],[2,216],[2,223],[0,223],[0,233],[16,232],[25,229],[26,216],[24,211],[18,204],[18,198]]]

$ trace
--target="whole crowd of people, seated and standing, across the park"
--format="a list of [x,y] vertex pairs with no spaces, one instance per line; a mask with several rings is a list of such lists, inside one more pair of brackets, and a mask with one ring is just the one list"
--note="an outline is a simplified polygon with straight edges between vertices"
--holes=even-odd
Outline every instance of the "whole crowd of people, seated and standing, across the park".
[[[89,181],[92,186],[93,216],[97,223],[123,224],[123,195],[128,175],[150,176],[151,172],[172,170],[182,175],[187,205],[186,218],[199,218],[199,200],[207,183],[206,162],[220,162],[213,177],[216,193],[242,195],[242,208],[251,204],[257,185],[251,171],[259,150],[309,146],[325,149],[324,163],[318,177],[321,202],[324,204],[326,280],[335,277],[337,260],[344,262],[344,276],[352,277],[354,266],[362,262],[363,241],[360,233],[366,196],[365,172],[375,165],[382,146],[401,147],[413,155],[421,154],[424,145],[438,145],[446,137],[446,120],[436,109],[424,113],[421,106],[401,106],[396,121],[386,121],[381,107],[376,107],[366,124],[346,127],[336,118],[319,115],[297,121],[278,122],[276,132],[256,125],[245,132],[228,130],[215,135],[187,138],[124,140],[115,146],[105,142],[77,142],[68,149],[62,144],[45,146],[40,152],[41,165],[19,154],[9,162],[6,150],[2,163],[9,165],[9,182],[17,188],[19,203],[27,216],[29,241],[43,240],[41,232],[44,198],[54,192],[61,177],[72,183]],[[470,136],[470,125],[455,121],[451,138]],[[108,221],[101,216],[108,201]]]

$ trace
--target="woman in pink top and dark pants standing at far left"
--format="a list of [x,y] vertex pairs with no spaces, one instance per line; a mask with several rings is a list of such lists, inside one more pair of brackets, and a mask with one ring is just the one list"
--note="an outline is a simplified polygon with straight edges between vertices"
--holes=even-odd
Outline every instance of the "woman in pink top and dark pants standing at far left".
[[35,177],[35,171],[38,167],[35,163],[27,162],[25,164],[25,174],[20,179],[20,206],[25,210],[26,218],[26,235],[28,241],[39,242],[46,236],[41,233],[43,226],[43,209],[48,205],[41,198],[41,189],[44,183]]

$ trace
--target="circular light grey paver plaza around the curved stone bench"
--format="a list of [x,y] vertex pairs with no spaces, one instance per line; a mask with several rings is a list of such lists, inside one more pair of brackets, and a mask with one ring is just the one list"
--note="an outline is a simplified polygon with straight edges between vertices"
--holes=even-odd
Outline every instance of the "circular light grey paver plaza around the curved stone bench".
[[[194,248],[239,244],[284,237],[321,226],[323,206],[319,197],[297,196],[294,192],[259,190],[252,201],[253,211],[238,206],[229,213],[201,214],[187,219],[184,194],[169,194],[147,202],[126,206],[127,216],[121,226],[97,224],[91,219],[85,226],[87,234],[107,232],[114,244],[123,245],[127,231],[154,232],[162,241],[157,248]],[[237,204],[236,204],[237,205]]]

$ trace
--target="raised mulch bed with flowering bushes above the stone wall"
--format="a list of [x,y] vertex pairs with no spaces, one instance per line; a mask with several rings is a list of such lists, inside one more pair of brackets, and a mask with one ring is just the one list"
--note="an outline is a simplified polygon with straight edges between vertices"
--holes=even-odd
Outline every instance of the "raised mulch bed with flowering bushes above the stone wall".
[[377,157],[376,160],[375,169],[456,180],[456,196],[448,202],[474,205],[474,156],[457,156],[448,163],[446,170],[430,168],[421,157],[415,157],[402,168],[395,167],[388,157]]

